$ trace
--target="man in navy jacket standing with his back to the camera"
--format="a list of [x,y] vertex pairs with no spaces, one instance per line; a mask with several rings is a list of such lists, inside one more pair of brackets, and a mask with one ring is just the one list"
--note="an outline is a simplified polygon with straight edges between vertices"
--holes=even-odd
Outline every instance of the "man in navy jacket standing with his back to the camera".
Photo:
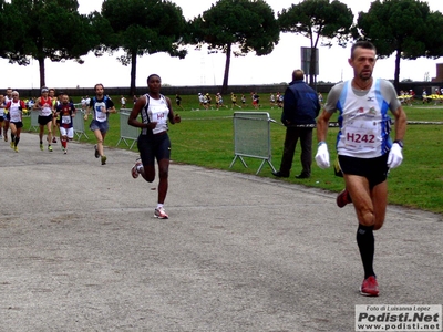
[[296,178],[309,178],[312,164],[312,129],[320,112],[316,91],[303,81],[302,70],[292,72],[292,82],[285,92],[281,122],[286,126],[284,155],[280,169],[272,174],[277,177],[289,177],[298,138],[301,144],[302,170]]

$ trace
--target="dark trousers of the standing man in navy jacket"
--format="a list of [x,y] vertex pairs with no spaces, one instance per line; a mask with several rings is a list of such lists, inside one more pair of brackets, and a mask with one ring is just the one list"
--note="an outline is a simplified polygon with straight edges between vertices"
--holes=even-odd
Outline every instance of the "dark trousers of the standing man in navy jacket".
[[280,173],[284,176],[289,176],[290,169],[292,167],[293,153],[296,152],[296,146],[298,138],[300,138],[301,145],[301,174],[311,175],[311,164],[312,164],[312,128],[299,128],[299,127],[287,127],[284,155],[281,157]]

